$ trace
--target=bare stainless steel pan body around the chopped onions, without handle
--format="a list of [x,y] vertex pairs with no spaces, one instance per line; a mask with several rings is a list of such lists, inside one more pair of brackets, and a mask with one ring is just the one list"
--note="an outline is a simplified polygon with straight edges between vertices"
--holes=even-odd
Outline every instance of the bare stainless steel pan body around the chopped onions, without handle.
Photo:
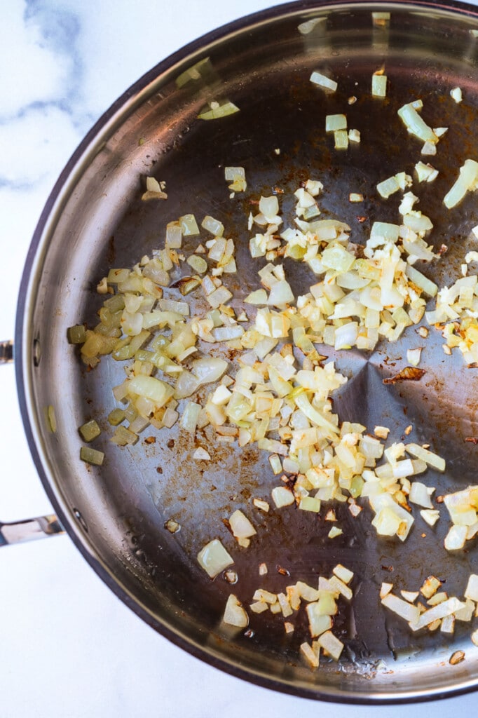
[[[390,12],[388,27],[374,25],[372,11]],[[298,25],[308,19],[319,22],[301,34]],[[154,449],[141,444],[122,451],[112,450],[104,432],[106,463],[101,471],[88,470],[78,461],[78,426],[106,416],[113,406],[111,386],[123,374],[106,360],[85,373],[66,344],[66,328],[94,321],[95,286],[109,266],[134,264],[162,241],[164,225],[186,212],[214,214],[231,228],[240,267],[235,292],[243,297],[256,274],[244,240],[248,198],[277,186],[294,190],[311,174],[331,188],[324,210],[344,218],[360,241],[377,213],[376,182],[416,161],[405,131],[398,129],[396,109],[418,97],[434,126],[451,128],[435,161],[439,180],[421,202],[434,220],[436,246],[449,245],[446,269],[436,279],[458,276],[463,248],[472,247],[469,230],[477,224],[474,201],[469,197],[451,215],[441,197],[463,160],[476,157],[477,41],[470,31],[477,27],[474,11],[459,5],[298,4],[210,34],[151,70],[85,138],[50,197],[29,253],[19,299],[17,378],[32,452],[62,524],[100,576],[156,630],[212,665],[279,690],[380,702],[474,687],[477,655],[469,625],[452,639],[412,636],[378,602],[390,567],[404,588],[434,573],[458,590],[476,570],[473,546],[459,556],[445,554],[445,526],[426,538],[415,527],[405,545],[378,540],[367,510],[353,523],[340,516],[345,535],[331,546],[323,524],[301,512],[274,513],[263,522],[258,542],[237,555],[238,595],[249,600],[260,561],[291,574],[284,579],[271,572],[273,590],[291,580],[312,581],[341,561],[355,571],[360,587],[353,615],[345,611],[337,622],[346,656],[339,666],[309,671],[297,650],[305,623],[292,640],[277,621],[263,617],[251,623],[253,635],[231,633],[220,622],[230,587],[220,578],[205,579],[195,556],[219,534],[233,546],[221,519],[247,507],[251,495],[270,492],[267,457],[255,448],[215,448],[213,467],[201,472],[191,461],[195,442],[179,432],[160,434]],[[205,57],[210,72],[178,87],[184,70]],[[370,77],[383,64],[390,90],[378,106],[370,98]],[[337,93],[325,96],[311,88],[309,75],[316,68],[339,81]],[[456,85],[465,96],[459,111],[449,102]],[[348,108],[350,95],[358,100]],[[198,121],[205,102],[217,98],[234,101],[240,112]],[[360,151],[337,155],[324,137],[324,116],[344,108],[363,139]],[[226,164],[246,168],[245,202],[231,202],[225,192]],[[167,182],[164,205],[141,202],[146,174]],[[365,222],[348,202],[352,187],[365,195]],[[395,211],[393,204],[380,205],[380,219],[393,221]],[[298,267],[290,271],[298,293],[310,277]],[[476,429],[474,370],[464,370],[458,356],[444,363],[437,337],[436,346],[427,344],[424,381],[385,388],[382,380],[403,365],[408,341],[406,336],[371,356],[338,355],[337,365],[350,381],[336,398],[337,411],[352,420],[360,411],[364,424],[386,423],[398,437],[413,424],[418,441],[446,456],[449,470],[435,482],[437,493],[445,493],[474,482],[476,449],[464,442]],[[48,406],[55,408],[54,434],[45,421]],[[164,530],[171,516],[182,524],[174,536]],[[457,648],[466,659],[450,666]]]

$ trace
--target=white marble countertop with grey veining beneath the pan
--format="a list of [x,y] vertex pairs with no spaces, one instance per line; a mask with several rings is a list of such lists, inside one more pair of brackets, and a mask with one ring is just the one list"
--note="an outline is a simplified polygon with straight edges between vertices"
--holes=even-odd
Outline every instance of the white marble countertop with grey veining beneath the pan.
[[[91,124],[141,74],[264,0],[7,0],[0,9],[0,338],[14,332],[22,266],[53,183]],[[0,518],[50,513],[29,459],[13,367],[0,371]],[[332,712],[398,718],[439,706],[326,706],[250,686],[156,635],[66,536],[0,549],[0,714],[5,718],[188,718]]]

